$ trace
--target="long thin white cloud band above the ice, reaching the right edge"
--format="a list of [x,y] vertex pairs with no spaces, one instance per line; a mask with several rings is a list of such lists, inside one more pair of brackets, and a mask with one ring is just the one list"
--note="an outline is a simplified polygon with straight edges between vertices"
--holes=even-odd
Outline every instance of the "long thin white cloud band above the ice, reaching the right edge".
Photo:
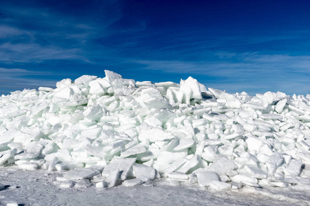
[[[132,60],[144,65],[145,69],[161,70],[166,73],[196,73],[208,76],[238,76],[257,73],[270,74],[290,70],[310,73],[310,56],[262,55],[258,53],[216,52],[218,58],[209,60]],[[256,73],[254,73],[256,72]]]

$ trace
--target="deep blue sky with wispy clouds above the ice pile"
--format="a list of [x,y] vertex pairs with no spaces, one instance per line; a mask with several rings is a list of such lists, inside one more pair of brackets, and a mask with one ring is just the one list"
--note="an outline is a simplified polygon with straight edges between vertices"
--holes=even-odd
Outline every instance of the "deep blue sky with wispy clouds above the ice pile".
[[250,95],[310,93],[310,1],[1,0],[0,94],[104,69]]

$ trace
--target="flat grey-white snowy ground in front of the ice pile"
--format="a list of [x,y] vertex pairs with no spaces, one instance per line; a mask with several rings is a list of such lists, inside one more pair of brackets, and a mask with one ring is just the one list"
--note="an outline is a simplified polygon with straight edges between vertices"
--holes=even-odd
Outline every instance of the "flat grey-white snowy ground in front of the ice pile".
[[241,190],[208,192],[194,185],[172,186],[163,180],[136,187],[70,188],[54,185],[61,172],[0,170],[0,205],[309,205],[309,192],[282,188],[243,187]]

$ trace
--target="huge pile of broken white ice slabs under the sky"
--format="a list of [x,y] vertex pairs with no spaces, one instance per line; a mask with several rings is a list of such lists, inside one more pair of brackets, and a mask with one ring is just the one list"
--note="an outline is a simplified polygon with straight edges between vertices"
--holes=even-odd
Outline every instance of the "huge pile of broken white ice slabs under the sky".
[[0,164],[65,171],[61,187],[172,184],[310,190],[310,96],[229,94],[194,78],[105,71],[0,98]]

